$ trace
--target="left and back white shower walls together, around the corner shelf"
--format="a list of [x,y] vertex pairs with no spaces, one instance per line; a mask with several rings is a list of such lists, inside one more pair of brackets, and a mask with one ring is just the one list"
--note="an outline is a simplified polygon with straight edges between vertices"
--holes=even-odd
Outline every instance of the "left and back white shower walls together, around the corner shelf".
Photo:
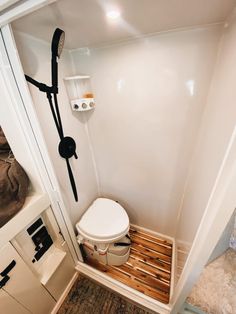
[[[79,159],[71,159],[78,203],[57,152],[46,97],[29,85],[73,224],[100,195],[118,200],[132,223],[175,235],[221,29],[215,25],[64,51],[59,103],[65,134],[78,146]],[[50,45],[14,35],[25,73],[50,83]],[[72,74],[91,75],[94,111],[71,110],[62,78]]]

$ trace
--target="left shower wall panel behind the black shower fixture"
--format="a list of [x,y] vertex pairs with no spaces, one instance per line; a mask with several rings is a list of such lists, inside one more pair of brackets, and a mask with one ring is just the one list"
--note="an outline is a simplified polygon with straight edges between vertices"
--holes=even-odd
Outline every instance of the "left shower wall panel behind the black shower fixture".
[[[53,33],[53,30],[52,30]],[[14,32],[17,48],[24,71],[29,76],[48,85],[51,84],[51,47],[31,36]],[[59,107],[65,135],[72,136],[77,144],[78,160],[71,158],[71,166],[78,188],[79,201],[76,203],[71,191],[65,160],[58,154],[59,137],[50,112],[46,95],[29,84],[35,110],[45,137],[48,152],[53,161],[62,196],[67,204],[72,223],[75,224],[84,210],[97,197],[98,189],[93,162],[90,154],[85,122],[73,113],[66,94],[63,77],[71,75],[71,60],[64,50],[59,60]]]

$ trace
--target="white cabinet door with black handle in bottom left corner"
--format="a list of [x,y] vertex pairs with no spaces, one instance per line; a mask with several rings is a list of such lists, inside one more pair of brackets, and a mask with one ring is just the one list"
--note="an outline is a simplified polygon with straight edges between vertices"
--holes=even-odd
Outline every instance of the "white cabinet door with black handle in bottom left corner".
[[[12,269],[7,274],[9,280],[0,290],[6,308],[4,307],[0,313],[18,314],[27,313],[27,310],[34,314],[50,313],[55,306],[55,300],[40,284],[39,280],[37,280],[10,243],[0,250],[0,273],[4,272],[9,265],[12,265]],[[4,277],[1,276],[0,280],[4,279]],[[6,292],[23,306],[22,308],[19,307],[19,312],[18,309],[17,311],[14,310],[16,304],[6,297]],[[3,305],[1,304],[0,308],[1,306]]]

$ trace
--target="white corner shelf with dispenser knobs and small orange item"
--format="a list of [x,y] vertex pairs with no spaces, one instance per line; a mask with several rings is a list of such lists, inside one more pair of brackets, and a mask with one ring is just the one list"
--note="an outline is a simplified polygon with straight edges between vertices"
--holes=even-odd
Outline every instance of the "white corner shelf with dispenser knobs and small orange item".
[[88,111],[95,107],[93,97],[85,97],[91,94],[89,75],[75,75],[64,78],[67,94],[73,111]]

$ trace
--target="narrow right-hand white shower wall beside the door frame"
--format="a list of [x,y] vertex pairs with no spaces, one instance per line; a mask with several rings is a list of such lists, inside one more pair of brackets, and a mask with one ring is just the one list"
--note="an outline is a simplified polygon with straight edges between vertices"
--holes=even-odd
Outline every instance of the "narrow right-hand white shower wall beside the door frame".
[[189,248],[236,126],[236,12],[225,24],[189,174],[177,242]]

